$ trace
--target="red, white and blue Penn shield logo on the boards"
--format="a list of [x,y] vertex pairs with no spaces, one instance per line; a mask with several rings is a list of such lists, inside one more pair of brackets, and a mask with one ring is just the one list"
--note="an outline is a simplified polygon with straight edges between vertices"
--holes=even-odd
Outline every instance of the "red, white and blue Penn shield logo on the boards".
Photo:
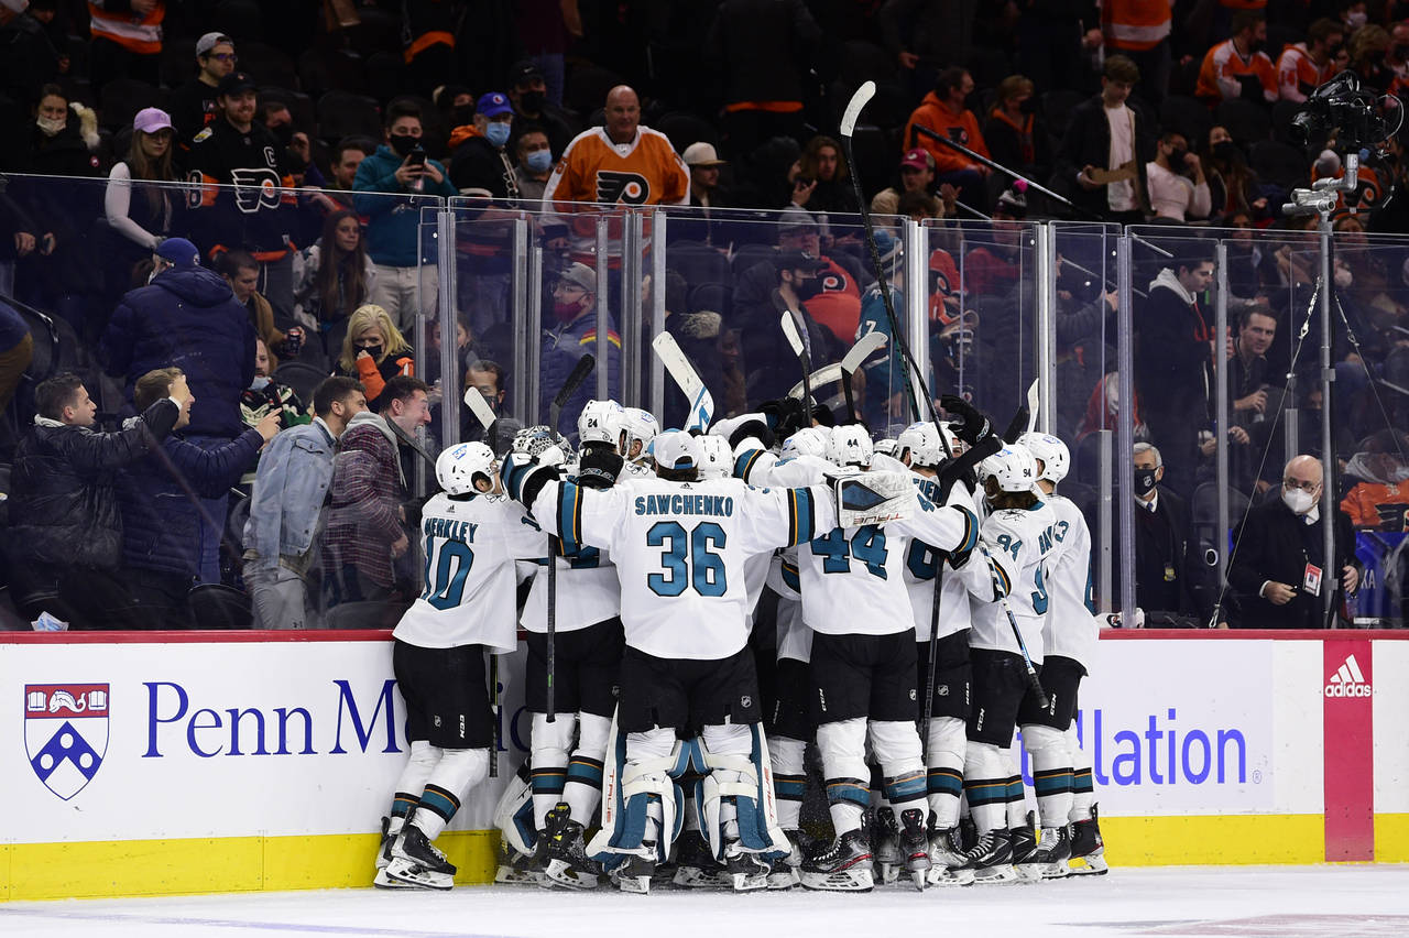
[[30,768],[68,801],[107,755],[107,684],[25,684],[24,751]]

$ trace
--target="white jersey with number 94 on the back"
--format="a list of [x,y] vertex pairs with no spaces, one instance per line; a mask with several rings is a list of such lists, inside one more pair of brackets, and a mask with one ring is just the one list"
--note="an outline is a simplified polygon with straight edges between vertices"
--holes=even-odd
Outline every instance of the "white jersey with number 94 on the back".
[[[1043,624],[1051,604],[1047,593],[1047,558],[1057,542],[1055,527],[1057,515],[1047,503],[1038,501],[1031,508],[992,513],[983,521],[979,535],[993,561],[1000,582],[998,589],[1007,597],[1033,663],[1043,659]],[[982,563],[982,556],[975,556],[971,562]],[[1007,614],[993,596],[992,577],[989,583],[981,584],[976,579],[969,583],[969,617],[974,623],[969,648],[1020,654]]]

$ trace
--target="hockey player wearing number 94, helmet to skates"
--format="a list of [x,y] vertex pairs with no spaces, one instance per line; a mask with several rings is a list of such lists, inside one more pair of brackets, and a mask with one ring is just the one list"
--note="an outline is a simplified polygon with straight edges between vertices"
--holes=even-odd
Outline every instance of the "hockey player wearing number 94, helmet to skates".
[[1040,665],[1048,607],[1045,562],[1057,517],[1037,497],[1037,462],[1020,445],[1005,446],[979,463],[979,479],[992,510],[979,538],[991,583],[969,587],[974,699],[964,793],[979,837],[967,853],[964,869],[974,872],[975,882],[993,883],[1017,877],[1009,814],[1010,808],[1020,814],[1023,780],[1012,744],[1017,710],[1027,693],[1027,673],[1013,623],[1034,666]]

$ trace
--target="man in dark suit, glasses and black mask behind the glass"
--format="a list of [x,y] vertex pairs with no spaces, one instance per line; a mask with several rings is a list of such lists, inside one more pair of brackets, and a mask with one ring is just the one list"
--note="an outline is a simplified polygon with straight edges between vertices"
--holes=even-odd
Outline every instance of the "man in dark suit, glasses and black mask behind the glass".
[[1150,611],[1199,617],[1195,594],[1202,572],[1189,552],[1189,506],[1160,486],[1164,458],[1150,444],[1134,446],[1136,492],[1136,606]]

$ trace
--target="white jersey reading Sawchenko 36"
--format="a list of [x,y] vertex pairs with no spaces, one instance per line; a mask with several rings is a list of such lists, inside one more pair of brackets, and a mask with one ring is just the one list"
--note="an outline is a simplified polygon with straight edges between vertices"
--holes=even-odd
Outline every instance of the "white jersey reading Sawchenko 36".
[[606,490],[551,482],[533,514],[564,539],[612,552],[626,642],[666,659],[714,661],[748,641],[745,562],[836,521],[827,490],[737,479],[637,480]]

